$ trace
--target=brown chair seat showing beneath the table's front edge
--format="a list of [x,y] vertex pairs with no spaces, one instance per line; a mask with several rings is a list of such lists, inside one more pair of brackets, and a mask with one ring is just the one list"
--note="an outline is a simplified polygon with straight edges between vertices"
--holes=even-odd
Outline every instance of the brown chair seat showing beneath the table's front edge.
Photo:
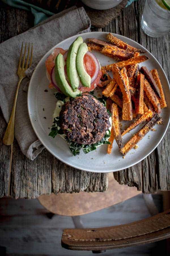
[[[82,177],[82,176],[81,176]],[[119,185],[112,173],[109,173],[109,186],[104,193],[59,193],[42,195],[40,203],[50,212],[64,216],[79,216],[115,205],[141,194],[136,188]]]

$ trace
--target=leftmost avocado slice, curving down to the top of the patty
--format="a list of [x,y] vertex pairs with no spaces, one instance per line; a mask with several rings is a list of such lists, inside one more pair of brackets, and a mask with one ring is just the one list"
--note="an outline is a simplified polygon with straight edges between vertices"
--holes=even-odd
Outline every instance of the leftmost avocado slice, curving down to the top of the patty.
[[69,86],[67,80],[65,79],[64,66],[65,66],[64,57],[61,53],[59,53],[58,56],[56,57],[56,61],[55,61],[56,82],[57,82],[60,90],[66,96],[75,98],[78,94],[80,94],[80,91],[77,89],[75,92],[73,92],[72,88]]

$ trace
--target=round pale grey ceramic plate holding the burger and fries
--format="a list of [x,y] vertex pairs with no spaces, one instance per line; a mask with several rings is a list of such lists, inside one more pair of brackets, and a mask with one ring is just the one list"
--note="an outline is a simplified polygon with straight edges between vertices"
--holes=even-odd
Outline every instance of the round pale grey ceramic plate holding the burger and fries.
[[[81,34],[81,36],[84,40],[89,37],[105,40],[106,34],[106,32],[89,32]],[[31,124],[37,137],[46,149],[56,158],[74,168],[89,172],[115,172],[129,168],[148,156],[162,140],[169,124],[169,105],[166,109],[163,109],[161,114],[164,125],[155,125],[154,128],[156,131],[150,131],[138,143],[139,147],[136,150],[132,149],[128,152],[124,159],[119,153],[116,141],[113,143],[112,153],[110,155],[107,154],[107,145],[102,145],[97,148],[97,150],[89,152],[88,154],[84,154],[83,151],[81,151],[80,155],[73,156],[69,150],[68,144],[61,137],[56,136],[53,139],[48,136],[48,133],[50,132],[49,127],[52,125],[52,114],[57,100],[53,95],[54,91],[48,89],[49,82],[46,78],[45,60],[56,47],[68,49],[77,36],[78,35],[72,36],[54,46],[44,55],[33,72],[28,90],[28,112]],[[131,46],[146,50],[143,46],[129,38],[117,34],[115,34],[115,36]],[[95,52],[95,55],[99,59],[101,66],[113,62],[111,58],[106,57],[101,53]],[[165,72],[150,52],[147,51],[146,55],[149,57],[149,60],[141,63],[141,65],[146,66],[149,70],[153,68],[158,70],[168,102],[168,99],[170,98],[170,87]],[[48,92],[45,92],[45,89],[48,89]],[[126,134],[123,137],[123,143],[126,143],[138,130],[139,127],[132,130],[131,133]]]

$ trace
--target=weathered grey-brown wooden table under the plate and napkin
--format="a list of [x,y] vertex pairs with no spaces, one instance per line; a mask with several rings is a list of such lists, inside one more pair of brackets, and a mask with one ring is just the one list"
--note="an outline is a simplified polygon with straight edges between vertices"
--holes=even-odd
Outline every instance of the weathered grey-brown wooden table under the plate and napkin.
[[[48,1],[48,4],[50,2],[52,1]],[[59,2],[56,12],[57,9],[61,11],[74,4],[74,1]],[[144,34],[140,26],[144,2],[144,0],[135,1],[105,28],[92,27],[92,31],[114,32],[139,42],[156,57],[169,78],[170,33],[157,39]],[[47,1],[39,0],[39,3],[46,5]],[[0,6],[0,42],[33,26],[31,13],[3,3],[0,3]],[[7,124],[1,113],[0,138],[3,137],[6,127]],[[137,187],[143,193],[155,192],[157,188],[163,191],[170,190],[169,140],[168,129],[154,152],[139,164],[115,172],[114,178],[120,184]],[[47,150],[43,150],[34,161],[31,161],[21,153],[16,141],[13,144],[13,158],[10,161],[10,146],[5,146],[2,140],[0,141],[0,197],[11,195],[13,198],[31,199],[58,192],[105,191],[107,186],[108,174],[76,170],[54,158]]]

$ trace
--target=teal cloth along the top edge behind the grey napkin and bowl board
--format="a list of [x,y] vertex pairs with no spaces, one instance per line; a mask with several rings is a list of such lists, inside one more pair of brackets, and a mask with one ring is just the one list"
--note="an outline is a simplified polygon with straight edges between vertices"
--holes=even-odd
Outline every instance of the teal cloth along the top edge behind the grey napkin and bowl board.
[[[131,3],[133,3],[134,1],[137,0],[128,0],[126,7],[131,5]],[[31,11],[31,13],[34,15],[34,26],[37,25],[39,22],[46,20],[50,16],[54,15],[54,13],[50,11],[44,10],[35,5],[31,5],[30,3],[26,3],[22,0],[2,0],[2,2],[12,7],[17,7],[23,10]]]

